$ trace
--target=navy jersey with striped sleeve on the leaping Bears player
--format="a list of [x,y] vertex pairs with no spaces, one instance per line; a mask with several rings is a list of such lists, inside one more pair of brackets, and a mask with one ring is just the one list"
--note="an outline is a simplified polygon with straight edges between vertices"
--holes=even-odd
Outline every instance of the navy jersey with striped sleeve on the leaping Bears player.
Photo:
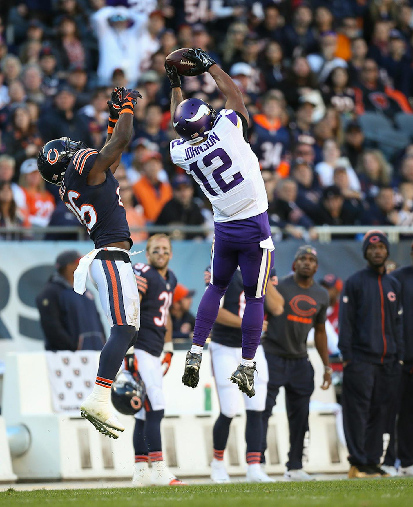
[[109,243],[129,241],[126,212],[119,195],[119,183],[110,170],[100,185],[88,185],[86,179],[98,152],[86,148],[76,152],[63,178],[59,193],[62,201],[86,227],[95,248]]

